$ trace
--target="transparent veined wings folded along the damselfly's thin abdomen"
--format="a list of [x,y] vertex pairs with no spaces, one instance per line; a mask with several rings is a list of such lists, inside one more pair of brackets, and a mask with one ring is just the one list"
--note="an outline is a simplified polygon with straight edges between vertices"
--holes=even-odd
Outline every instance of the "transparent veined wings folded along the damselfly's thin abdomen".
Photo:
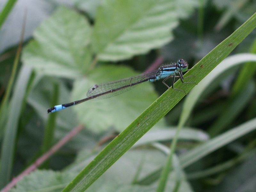
[[[144,82],[144,80],[146,81],[149,78],[155,77],[156,73],[157,73],[157,70],[154,70],[154,71],[150,71],[148,73],[140,74],[137,76],[132,76],[132,77],[125,78],[125,79],[120,79],[117,81],[112,81],[112,82],[103,83],[103,84],[99,84],[99,85],[93,85],[88,90],[86,95],[87,95],[87,97],[91,97],[91,96],[96,96],[96,95],[104,93],[104,92],[108,92],[107,94],[100,95],[100,96],[94,98],[94,100],[113,97],[113,96],[119,95],[121,93],[124,93],[126,91],[133,89],[140,83]],[[112,90],[113,92],[109,92],[110,90]]]

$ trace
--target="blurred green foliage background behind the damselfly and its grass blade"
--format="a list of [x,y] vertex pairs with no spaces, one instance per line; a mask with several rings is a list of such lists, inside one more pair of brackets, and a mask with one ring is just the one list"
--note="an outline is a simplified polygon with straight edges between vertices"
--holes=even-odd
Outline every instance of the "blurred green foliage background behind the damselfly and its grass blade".
[[[183,58],[191,68],[256,10],[255,0],[20,0],[0,2],[2,13],[7,2],[9,15],[0,16],[0,188],[76,126],[84,127],[12,191],[61,191],[166,87],[161,81],[144,83],[54,114],[47,108],[85,98],[94,84],[158,68],[164,61]],[[16,55],[23,26],[22,51]],[[255,34],[232,54],[255,53]],[[177,156],[256,117],[255,70],[255,62],[230,68],[204,90],[180,132]],[[172,141],[183,103],[87,191],[155,191],[157,178],[149,175],[164,165],[164,147]],[[255,191],[255,145],[253,129],[241,133],[182,169],[177,190]],[[176,176],[172,172],[166,191],[174,190]]]

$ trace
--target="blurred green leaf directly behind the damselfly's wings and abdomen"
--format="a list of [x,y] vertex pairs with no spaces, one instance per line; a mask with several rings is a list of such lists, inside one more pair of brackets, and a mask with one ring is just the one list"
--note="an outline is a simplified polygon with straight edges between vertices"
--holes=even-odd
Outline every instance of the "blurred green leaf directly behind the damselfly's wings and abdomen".
[[[107,75],[105,75],[107,74]],[[94,84],[105,83],[135,75],[127,67],[108,65],[96,68],[87,78],[77,80],[72,93],[73,100],[86,97],[87,90]],[[113,127],[122,131],[157,98],[149,82],[129,92],[104,100],[89,100],[75,106],[78,120],[94,132]],[[160,123],[161,124],[161,123]]]

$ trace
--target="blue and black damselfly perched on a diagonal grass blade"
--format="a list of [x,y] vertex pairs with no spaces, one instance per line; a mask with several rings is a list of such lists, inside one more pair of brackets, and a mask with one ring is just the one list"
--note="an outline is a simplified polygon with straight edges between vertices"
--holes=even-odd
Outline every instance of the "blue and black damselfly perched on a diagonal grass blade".
[[[55,105],[54,107],[49,108],[47,112],[53,113],[55,111],[60,111],[62,109],[68,108],[70,106],[73,106],[91,99],[105,99],[105,98],[113,97],[123,92],[126,92],[128,90],[131,90],[136,85],[145,81],[154,82],[159,79],[164,79],[163,84],[168,88],[170,88],[165,83],[165,81],[170,77],[173,77],[172,88],[175,90],[179,90],[173,87],[175,77],[179,77],[182,83],[193,83],[193,82],[183,81],[184,77],[182,75],[182,72],[185,72],[187,70],[188,70],[188,63],[185,60],[180,59],[176,63],[167,63],[160,66],[156,70],[143,73],[137,76],[133,76],[133,77],[117,80],[117,81],[112,81],[108,83],[103,83],[99,85],[93,85],[86,94],[87,98],[77,100],[71,103],[62,104],[62,105]],[[179,90],[179,91],[183,91],[183,90]]]

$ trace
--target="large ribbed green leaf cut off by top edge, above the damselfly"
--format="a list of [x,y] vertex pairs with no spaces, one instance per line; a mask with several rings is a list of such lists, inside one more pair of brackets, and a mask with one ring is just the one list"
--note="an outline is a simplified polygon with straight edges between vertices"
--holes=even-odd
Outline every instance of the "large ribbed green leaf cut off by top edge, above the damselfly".
[[177,13],[182,4],[174,0],[103,1],[92,36],[98,59],[124,60],[168,43],[184,12]]

